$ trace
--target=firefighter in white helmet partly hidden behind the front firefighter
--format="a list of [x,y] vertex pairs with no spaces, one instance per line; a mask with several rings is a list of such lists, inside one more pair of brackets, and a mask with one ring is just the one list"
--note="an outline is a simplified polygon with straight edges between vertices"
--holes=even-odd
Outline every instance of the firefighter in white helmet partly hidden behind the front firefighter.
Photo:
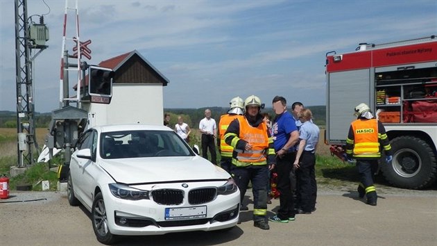
[[230,109],[228,113],[225,115],[221,115],[220,122],[218,122],[218,138],[217,138],[217,146],[218,151],[220,151],[221,160],[220,166],[227,172],[230,172],[231,161],[232,161],[232,152],[234,148],[225,142],[225,132],[228,129],[228,126],[232,120],[237,117],[242,117],[244,110],[244,101],[241,97],[234,97],[229,102]]

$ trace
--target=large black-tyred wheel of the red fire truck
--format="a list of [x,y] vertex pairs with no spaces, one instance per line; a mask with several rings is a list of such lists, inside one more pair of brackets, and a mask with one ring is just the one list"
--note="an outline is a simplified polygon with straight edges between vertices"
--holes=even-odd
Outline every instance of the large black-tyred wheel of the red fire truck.
[[391,140],[393,161],[382,163],[382,174],[393,186],[407,189],[425,188],[437,178],[437,163],[429,144],[414,136]]

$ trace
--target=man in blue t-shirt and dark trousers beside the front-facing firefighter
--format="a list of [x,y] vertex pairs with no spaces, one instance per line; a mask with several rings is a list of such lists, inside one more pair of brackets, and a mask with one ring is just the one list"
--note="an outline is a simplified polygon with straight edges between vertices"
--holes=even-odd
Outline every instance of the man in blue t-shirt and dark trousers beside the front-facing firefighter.
[[280,192],[280,208],[277,214],[268,220],[288,223],[295,218],[293,162],[295,160],[295,145],[299,140],[299,131],[293,116],[286,110],[286,99],[276,96],[272,103],[276,114],[275,120],[273,120],[272,136],[276,152],[275,172],[277,172],[277,190]]

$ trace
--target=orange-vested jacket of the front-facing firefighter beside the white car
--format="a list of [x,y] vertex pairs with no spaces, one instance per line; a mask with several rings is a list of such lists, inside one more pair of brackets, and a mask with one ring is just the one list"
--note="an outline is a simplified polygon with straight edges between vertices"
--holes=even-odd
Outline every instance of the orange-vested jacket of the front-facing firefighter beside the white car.
[[[246,117],[232,121],[225,132],[225,142],[234,148],[232,164],[237,167],[275,163],[273,139],[261,116],[252,124]],[[252,145],[252,149],[245,150],[247,143]]]

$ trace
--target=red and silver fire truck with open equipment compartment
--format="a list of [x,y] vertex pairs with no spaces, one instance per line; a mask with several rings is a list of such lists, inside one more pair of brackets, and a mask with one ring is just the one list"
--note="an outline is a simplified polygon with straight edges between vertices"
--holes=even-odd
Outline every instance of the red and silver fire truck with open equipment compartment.
[[361,43],[326,55],[325,142],[343,150],[354,107],[366,103],[383,122],[393,149],[380,171],[393,186],[420,189],[437,179],[437,37]]

